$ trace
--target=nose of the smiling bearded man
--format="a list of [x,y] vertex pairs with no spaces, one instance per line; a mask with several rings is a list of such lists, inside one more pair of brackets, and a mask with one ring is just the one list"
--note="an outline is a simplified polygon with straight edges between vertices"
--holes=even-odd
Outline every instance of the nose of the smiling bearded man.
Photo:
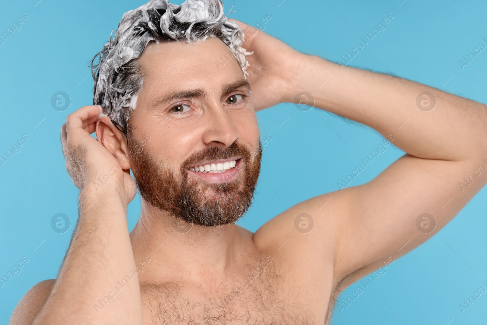
[[214,102],[206,106],[200,119],[204,123],[203,141],[206,144],[226,148],[240,137],[231,112],[221,103]]

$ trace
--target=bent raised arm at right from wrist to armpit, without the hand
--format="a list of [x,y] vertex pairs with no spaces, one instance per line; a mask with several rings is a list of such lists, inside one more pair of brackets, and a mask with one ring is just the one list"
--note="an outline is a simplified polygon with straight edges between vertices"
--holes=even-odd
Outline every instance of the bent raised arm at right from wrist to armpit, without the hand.
[[[368,125],[407,153],[370,182],[337,193],[346,213],[334,231],[335,271],[348,283],[426,241],[487,183],[486,105],[314,56],[302,61],[297,81],[288,93],[309,92],[315,107]],[[318,218],[326,213],[315,210]]]

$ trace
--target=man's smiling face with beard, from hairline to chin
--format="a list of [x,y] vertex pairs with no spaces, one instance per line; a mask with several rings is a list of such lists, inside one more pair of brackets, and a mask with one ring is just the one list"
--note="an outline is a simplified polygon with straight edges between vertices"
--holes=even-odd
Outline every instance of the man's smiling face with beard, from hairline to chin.
[[251,204],[262,156],[237,60],[208,38],[150,44],[138,63],[144,82],[128,149],[141,196],[196,225],[235,222]]

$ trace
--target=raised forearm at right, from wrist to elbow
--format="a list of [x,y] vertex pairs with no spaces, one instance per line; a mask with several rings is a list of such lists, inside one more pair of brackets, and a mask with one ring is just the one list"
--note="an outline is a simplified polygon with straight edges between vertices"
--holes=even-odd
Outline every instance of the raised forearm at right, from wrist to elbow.
[[306,56],[295,87],[291,95],[311,93],[316,107],[368,125],[385,138],[392,134],[394,145],[412,156],[465,161],[486,153],[484,104],[312,56]]

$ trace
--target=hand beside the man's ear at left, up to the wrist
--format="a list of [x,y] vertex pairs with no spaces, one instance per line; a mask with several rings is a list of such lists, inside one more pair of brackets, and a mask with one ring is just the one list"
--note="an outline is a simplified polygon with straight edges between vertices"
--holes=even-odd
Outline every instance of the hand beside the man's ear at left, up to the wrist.
[[[66,118],[66,123],[61,127],[66,169],[78,189],[83,190],[90,185],[97,191],[101,184],[101,187],[108,187],[106,190],[115,190],[129,204],[137,191],[130,170],[122,170],[117,159],[101,144],[100,139],[90,136],[95,132],[100,111],[102,107],[99,105],[83,106]],[[102,118],[112,124],[108,117]],[[104,172],[110,178],[100,182],[98,177]]]

